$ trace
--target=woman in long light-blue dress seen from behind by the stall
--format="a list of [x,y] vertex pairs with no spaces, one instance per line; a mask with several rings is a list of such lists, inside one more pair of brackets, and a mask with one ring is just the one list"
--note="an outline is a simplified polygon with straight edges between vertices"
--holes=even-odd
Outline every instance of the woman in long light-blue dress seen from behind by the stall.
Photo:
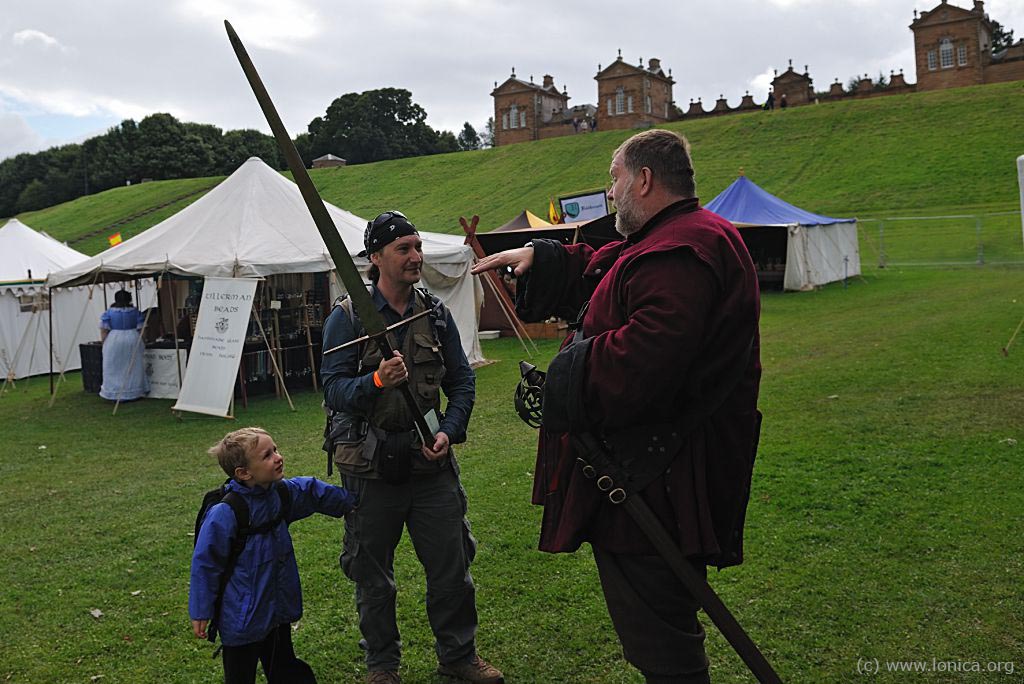
[[112,401],[131,401],[150,393],[145,377],[145,347],[142,324],[145,316],[132,306],[131,294],[119,290],[114,305],[99,316],[99,335],[103,341],[103,384],[99,395]]

